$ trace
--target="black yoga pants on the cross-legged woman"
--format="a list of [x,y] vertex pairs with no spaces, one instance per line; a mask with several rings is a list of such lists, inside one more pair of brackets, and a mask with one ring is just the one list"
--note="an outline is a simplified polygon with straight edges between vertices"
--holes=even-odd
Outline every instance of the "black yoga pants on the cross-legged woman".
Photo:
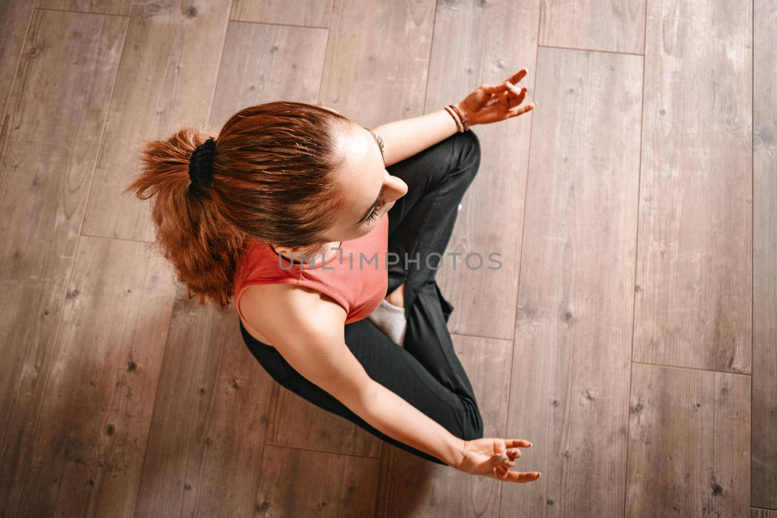
[[[396,264],[389,266],[386,292],[405,283],[405,344],[402,347],[393,342],[367,318],[345,326],[348,348],[373,380],[464,440],[483,437],[483,419],[448,332],[453,307],[442,296],[434,274],[440,261],[446,260],[444,252],[458,215],[458,203],[475,178],[479,163],[479,140],[468,130],[387,168],[408,186],[406,195],[396,200],[388,214],[389,252],[395,252],[399,261],[395,261],[397,256],[390,256]],[[284,388],[355,422],[395,447],[445,464],[378,431],[294,370],[277,349],[249,335],[242,322],[240,329],[250,352]]]

